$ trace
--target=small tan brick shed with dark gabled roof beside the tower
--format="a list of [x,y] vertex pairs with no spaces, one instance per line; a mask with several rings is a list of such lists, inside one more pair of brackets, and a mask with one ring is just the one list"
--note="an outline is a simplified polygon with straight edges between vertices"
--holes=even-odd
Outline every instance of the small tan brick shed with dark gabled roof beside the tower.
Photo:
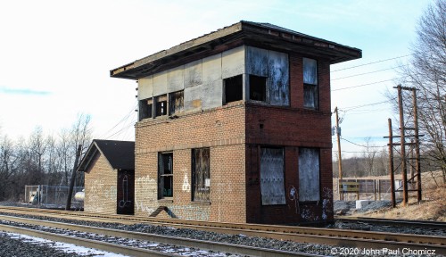
[[134,213],[135,142],[93,140],[78,171],[85,172],[85,211]]

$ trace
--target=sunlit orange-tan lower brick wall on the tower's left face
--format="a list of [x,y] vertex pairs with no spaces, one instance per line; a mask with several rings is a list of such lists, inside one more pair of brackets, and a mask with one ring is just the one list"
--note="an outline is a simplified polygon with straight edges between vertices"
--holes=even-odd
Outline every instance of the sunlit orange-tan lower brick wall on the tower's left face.
[[[136,124],[136,215],[159,206],[180,219],[245,222],[244,104]],[[210,147],[211,203],[194,203],[192,149]],[[173,199],[158,200],[158,153],[173,153]],[[160,214],[165,217],[166,213]]]

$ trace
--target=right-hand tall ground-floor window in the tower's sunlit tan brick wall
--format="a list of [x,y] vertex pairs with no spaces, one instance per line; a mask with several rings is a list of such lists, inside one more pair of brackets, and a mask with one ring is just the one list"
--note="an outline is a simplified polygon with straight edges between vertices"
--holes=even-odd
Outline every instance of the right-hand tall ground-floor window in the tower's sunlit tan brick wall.
[[192,201],[210,201],[211,172],[210,150],[192,150]]

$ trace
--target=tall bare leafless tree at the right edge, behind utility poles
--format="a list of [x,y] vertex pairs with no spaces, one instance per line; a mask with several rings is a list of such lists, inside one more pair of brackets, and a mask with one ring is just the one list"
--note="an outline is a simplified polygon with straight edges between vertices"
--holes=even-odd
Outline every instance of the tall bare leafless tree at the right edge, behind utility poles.
[[[418,124],[425,135],[423,157],[442,170],[446,181],[446,0],[436,0],[426,9],[411,52],[402,70],[403,83],[417,88]],[[405,114],[411,115],[410,105],[405,106]]]

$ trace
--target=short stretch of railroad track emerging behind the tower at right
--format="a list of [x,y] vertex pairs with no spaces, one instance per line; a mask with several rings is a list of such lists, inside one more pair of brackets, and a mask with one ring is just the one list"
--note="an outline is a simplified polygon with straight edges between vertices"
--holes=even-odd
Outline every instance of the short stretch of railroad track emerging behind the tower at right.
[[335,216],[335,220],[343,222],[358,222],[375,224],[392,227],[410,227],[410,228],[434,228],[446,230],[446,222],[442,221],[428,221],[428,220],[389,220],[363,217],[341,217]]

